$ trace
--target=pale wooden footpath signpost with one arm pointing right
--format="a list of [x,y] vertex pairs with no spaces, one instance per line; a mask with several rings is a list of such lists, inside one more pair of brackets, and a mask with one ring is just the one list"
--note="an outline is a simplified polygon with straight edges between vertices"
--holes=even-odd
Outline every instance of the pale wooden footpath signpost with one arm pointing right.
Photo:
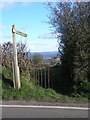
[[19,72],[18,59],[17,59],[16,34],[21,35],[23,37],[27,37],[27,34],[17,31],[15,25],[12,25],[13,52],[14,52],[13,83],[14,83],[14,88],[19,89],[21,87],[21,84],[20,84],[20,72]]

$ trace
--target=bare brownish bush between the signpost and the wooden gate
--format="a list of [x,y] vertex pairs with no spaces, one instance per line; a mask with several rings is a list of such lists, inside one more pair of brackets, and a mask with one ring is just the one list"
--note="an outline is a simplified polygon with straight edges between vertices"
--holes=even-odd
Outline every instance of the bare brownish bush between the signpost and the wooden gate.
[[30,50],[27,50],[27,45],[25,43],[17,44],[17,54],[18,54],[18,62],[19,62],[20,72],[26,72],[30,75],[31,61],[28,58],[29,52],[30,52]]

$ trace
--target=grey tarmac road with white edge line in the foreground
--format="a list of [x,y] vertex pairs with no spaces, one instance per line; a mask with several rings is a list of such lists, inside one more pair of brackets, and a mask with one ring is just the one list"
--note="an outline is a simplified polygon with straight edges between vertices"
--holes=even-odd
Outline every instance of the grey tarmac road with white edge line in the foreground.
[[3,105],[3,118],[88,118],[88,108]]

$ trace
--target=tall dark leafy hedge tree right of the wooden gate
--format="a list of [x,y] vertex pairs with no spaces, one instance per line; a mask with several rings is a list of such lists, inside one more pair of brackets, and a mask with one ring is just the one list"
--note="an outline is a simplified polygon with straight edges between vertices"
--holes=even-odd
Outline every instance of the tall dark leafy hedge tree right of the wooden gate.
[[71,86],[78,93],[83,85],[90,84],[90,2],[57,2],[48,5],[52,13],[50,24],[59,34],[61,87],[68,89]]

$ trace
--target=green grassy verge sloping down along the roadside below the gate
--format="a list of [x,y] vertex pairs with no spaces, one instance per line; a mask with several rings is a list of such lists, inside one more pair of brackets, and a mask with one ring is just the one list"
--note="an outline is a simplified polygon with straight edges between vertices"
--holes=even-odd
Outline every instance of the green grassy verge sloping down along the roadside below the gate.
[[88,99],[81,96],[66,96],[56,93],[52,89],[44,89],[36,86],[34,80],[28,80],[21,75],[21,88],[13,88],[12,71],[2,70],[2,99],[4,100],[41,100],[41,101],[60,101],[60,102],[88,102]]

